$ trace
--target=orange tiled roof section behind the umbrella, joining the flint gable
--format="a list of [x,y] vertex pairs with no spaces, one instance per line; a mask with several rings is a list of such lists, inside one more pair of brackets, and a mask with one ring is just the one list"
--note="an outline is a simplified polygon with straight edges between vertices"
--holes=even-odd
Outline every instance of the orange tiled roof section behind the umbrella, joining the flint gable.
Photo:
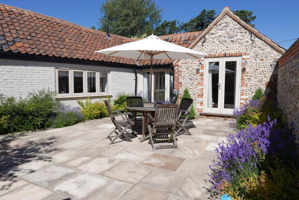
[[[189,32],[189,33],[177,33],[172,35],[164,35],[164,36],[158,36],[160,39],[171,42],[176,45],[180,45],[183,47],[188,48],[192,42],[195,41],[195,39],[202,33],[202,31],[196,31],[196,32]],[[124,39],[123,42],[133,42],[140,39]],[[174,60],[153,60],[153,65],[162,65],[162,64],[170,64]],[[139,60],[139,65],[150,65],[150,60]]]

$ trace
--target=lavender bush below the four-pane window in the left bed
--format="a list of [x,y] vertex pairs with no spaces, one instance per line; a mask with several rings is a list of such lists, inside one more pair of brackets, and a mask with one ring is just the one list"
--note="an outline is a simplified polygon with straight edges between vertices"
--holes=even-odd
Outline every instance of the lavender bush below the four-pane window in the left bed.
[[52,114],[50,120],[46,123],[46,127],[61,128],[74,125],[81,121],[84,121],[84,117],[82,116],[80,107],[60,105],[57,111]]

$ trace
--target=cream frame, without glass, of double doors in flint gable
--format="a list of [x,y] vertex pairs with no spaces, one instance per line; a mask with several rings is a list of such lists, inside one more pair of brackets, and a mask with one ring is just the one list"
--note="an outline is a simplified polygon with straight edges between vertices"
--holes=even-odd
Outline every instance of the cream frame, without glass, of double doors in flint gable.
[[[237,71],[236,71],[236,93],[235,93],[235,107],[240,106],[241,100],[241,65],[242,57],[219,57],[219,58],[205,58],[204,64],[204,99],[203,99],[203,112],[215,113],[215,114],[233,114],[234,109],[224,108],[224,88],[225,88],[225,61],[237,61]],[[208,108],[208,62],[219,62],[219,83],[221,89],[218,93],[218,108]],[[221,69],[220,69],[221,66]],[[221,73],[221,75],[220,75]],[[223,107],[223,108],[222,108]]]

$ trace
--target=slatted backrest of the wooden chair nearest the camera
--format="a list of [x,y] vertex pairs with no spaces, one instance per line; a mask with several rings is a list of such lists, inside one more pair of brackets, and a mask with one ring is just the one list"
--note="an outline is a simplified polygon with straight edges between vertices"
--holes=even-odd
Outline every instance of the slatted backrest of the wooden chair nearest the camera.
[[177,104],[157,104],[154,126],[175,126],[178,115]]

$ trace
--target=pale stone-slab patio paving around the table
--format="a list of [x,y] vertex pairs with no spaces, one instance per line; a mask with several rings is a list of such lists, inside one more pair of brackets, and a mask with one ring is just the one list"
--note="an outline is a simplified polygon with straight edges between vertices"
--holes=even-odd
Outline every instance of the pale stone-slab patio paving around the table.
[[0,136],[0,200],[207,199],[208,166],[228,124],[189,121],[193,135],[179,135],[179,149],[155,152],[138,138],[108,145],[109,118]]

